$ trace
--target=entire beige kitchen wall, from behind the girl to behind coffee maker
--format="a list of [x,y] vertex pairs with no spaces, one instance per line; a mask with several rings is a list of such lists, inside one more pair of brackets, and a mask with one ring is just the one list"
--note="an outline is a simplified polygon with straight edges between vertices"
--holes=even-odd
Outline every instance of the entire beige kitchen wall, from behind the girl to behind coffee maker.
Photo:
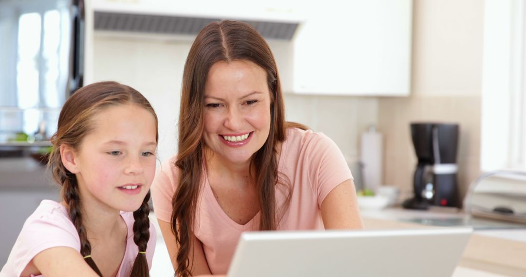
[[[385,137],[383,183],[412,191],[416,157],[409,123],[460,124],[462,196],[479,173],[483,1],[414,0],[410,97],[367,98],[285,94],[287,120],[324,132],[349,161],[359,157],[360,133],[377,124]],[[291,84],[290,45],[269,41],[285,90]],[[102,35],[94,38],[93,80],[117,80],[143,92],[159,115],[159,156],[176,152],[184,60],[191,40]]]

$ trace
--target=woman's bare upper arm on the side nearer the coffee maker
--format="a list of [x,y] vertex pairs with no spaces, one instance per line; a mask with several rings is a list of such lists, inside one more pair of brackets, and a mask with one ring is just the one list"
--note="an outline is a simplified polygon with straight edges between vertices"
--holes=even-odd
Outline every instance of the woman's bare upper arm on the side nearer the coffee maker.
[[339,184],[325,197],[321,218],[325,229],[363,229],[352,179]]

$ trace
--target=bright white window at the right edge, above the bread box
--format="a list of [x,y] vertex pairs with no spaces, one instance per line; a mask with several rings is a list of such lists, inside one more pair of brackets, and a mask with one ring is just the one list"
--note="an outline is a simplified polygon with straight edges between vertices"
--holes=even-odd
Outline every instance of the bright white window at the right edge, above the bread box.
[[525,32],[524,1],[485,1],[482,171],[526,171]]

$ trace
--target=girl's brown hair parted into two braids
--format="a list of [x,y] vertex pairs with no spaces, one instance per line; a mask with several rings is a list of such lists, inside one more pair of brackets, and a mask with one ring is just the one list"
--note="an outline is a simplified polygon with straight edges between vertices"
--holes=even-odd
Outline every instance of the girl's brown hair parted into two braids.
[[[60,145],[65,144],[78,149],[84,137],[93,130],[92,119],[95,114],[108,106],[125,104],[138,105],[154,115],[156,126],[155,140],[158,141],[157,115],[148,100],[135,89],[117,82],[93,83],[76,91],[66,101],[62,111],[60,111],[57,132],[51,139],[53,151],[49,156],[48,167],[52,169],[53,178],[62,186],[62,196],[67,204],[69,217],[77,229],[80,238],[80,254],[83,257],[91,254],[92,247],[87,238],[86,228],[83,225],[77,178],[62,163],[59,150]],[[140,208],[133,213],[135,218],[133,226],[134,242],[141,252],[146,252],[146,244],[150,237],[149,199],[150,193],[148,191]],[[85,258],[84,260],[99,276],[102,276],[92,258]],[[148,261],[145,254],[137,254],[130,276],[149,276]]]

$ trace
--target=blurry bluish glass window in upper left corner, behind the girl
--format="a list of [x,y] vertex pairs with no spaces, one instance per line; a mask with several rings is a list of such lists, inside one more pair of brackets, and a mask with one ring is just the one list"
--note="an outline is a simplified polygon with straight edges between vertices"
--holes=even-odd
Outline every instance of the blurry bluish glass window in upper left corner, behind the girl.
[[56,121],[69,77],[69,2],[0,3],[0,36],[6,38],[0,41],[0,108],[13,114],[0,120],[13,125],[3,129],[22,126],[14,131],[33,134],[42,122]]

